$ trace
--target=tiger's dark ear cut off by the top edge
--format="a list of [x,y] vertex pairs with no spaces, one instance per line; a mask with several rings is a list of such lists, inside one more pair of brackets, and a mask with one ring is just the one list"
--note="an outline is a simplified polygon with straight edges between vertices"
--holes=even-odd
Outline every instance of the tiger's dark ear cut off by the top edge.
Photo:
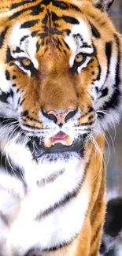
[[92,0],[94,6],[98,9],[107,11],[110,6],[112,6],[114,0]]

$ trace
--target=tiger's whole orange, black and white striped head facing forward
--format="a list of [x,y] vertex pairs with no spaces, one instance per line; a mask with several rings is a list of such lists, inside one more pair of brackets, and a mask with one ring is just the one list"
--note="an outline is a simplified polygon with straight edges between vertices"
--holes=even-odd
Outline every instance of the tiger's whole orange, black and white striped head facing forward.
[[111,3],[0,3],[1,140],[25,140],[36,160],[82,156],[87,138],[119,121],[122,47]]

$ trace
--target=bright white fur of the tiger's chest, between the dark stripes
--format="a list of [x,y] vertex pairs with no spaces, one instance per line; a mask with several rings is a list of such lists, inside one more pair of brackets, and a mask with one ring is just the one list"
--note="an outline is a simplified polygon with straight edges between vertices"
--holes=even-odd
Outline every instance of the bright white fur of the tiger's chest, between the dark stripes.
[[[1,144],[1,147],[4,147],[4,143]],[[62,200],[65,195],[74,191],[83,179],[87,159],[86,161],[79,161],[76,154],[72,154],[70,161],[59,159],[52,165],[46,161],[44,163],[40,161],[39,165],[36,165],[34,161],[31,161],[29,151],[22,145],[10,143],[7,150],[9,158],[14,159],[14,164],[23,167],[28,187],[24,195],[24,188],[20,181],[16,180],[15,176],[6,176],[6,173],[1,170],[2,201],[8,200],[11,193],[13,196],[13,191],[20,195],[20,201],[17,202],[17,209],[20,207],[20,210],[18,213],[13,207],[17,217],[10,224],[3,255],[11,256],[13,253],[23,255],[35,245],[44,249],[70,241],[83,226],[90,197],[88,183],[83,185],[82,191],[76,198],[72,198],[64,206],[57,208],[39,221],[35,218],[38,217],[39,213],[43,213],[43,210],[53,206],[54,203]],[[6,150],[4,153],[6,154]],[[58,173],[61,168],[64,168],[65,172],[56,180],[42,187],[37,186],[37,180],[46,178],[54,171]],[[13,198],[9,202],[6,201],[4,205],[7,206],[10,202],[13,206]],[[4,210],[4,213],[6,213],[6,210]],[[11,215],[13,216],[13,212]],[[3,237],[0,236],[0,241],[2,239]]]

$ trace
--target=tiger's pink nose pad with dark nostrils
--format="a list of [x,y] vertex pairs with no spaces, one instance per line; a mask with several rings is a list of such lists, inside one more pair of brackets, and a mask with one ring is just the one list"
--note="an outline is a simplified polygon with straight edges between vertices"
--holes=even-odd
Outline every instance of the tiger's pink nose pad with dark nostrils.
[[62,125],[62,124],[65,124],[69,119],[74,117],[77,110],[78,109],[76,108],[76,109],[66,109],[66,110],[58,110],[58,111],[50,110],[48,112],[44,112],[42,109],[42,112],[45,117],[54,121],[55,124]]

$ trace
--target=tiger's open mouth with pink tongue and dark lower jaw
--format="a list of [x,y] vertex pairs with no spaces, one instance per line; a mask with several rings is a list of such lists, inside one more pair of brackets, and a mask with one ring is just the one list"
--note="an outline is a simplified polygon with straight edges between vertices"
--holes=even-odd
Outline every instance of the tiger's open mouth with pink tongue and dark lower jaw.
[[39,137],[32,137],[28,147],[36,159],[41,158],[43,154],[60,154],[63,152],[77,152],[81,156],[83,155],[85,139],[86,135],[74,140],[65,132],[58,132],[49,139],[44,139],[43,142]]

